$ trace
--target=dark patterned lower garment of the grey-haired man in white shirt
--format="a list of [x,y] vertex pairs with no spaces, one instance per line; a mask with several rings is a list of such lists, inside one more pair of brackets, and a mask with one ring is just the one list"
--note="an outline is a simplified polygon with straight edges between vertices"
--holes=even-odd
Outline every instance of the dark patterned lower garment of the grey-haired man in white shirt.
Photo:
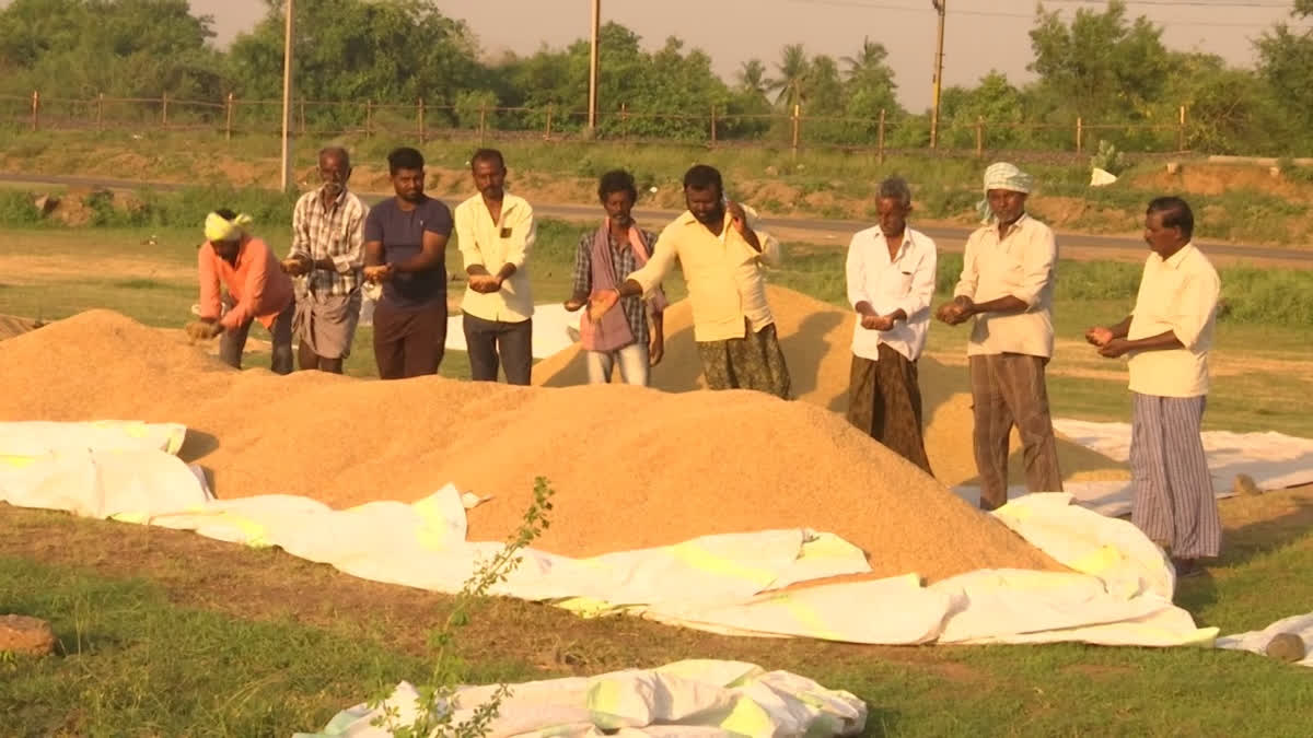
[[931,474],[922,437],[916,362],[909,361],[889,344],[880,344],[880,361],[852,357],[848,422]]

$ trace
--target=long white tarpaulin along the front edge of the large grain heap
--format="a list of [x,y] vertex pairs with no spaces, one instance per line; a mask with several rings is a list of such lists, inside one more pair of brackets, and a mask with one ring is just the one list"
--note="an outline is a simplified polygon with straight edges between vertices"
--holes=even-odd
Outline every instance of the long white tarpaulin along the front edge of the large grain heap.
[[[22,433],[12,425],[0,428],[0,439]],[[17,465],[22,457],[5,458],[0,500],[280,546],[378,582],[457,591],[502,545],[466,540],[466,503],[477,500],[450,486],[412,504],[339,511],[285,495],[213,500],[185,465],[154,449],[66,449]],[[495,592],[582,615],[633,612],[722,633],[859,643],[1211,642],[1216,629],[1196,629],[1171,604],[1174,578],[1162,552],[1130,524],[1070,502],[1065,494],[1029,495],[995,515],[1071,573],[974,571],[931,587],[909,573],[785,588],[869,571],[863,553],[835,536],[789,529],[588,559],[529,550]]]

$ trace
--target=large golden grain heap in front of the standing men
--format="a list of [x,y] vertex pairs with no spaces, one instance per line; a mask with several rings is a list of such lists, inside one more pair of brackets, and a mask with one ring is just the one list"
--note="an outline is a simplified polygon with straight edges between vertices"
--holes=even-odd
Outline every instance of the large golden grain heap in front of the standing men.
[[544,475],[557,498],[540,545],[570,555],[807,527],[861,546],[877,575],[1057,567],[832,412],[758,393],[238,373],[105,311],[0,343],[0,382],[14,390],[0,420],[188,424],[184,458],[219,496],[345,507],[454,482],[492,495],[470,533],[499,540]]

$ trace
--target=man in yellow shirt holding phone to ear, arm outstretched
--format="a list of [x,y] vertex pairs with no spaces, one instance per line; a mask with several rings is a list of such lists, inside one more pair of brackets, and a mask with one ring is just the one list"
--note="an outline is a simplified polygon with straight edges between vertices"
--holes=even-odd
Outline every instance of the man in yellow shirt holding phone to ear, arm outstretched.
[[775,316],[765,301],[762,264],[780,244],[758,231],[756,213],[725,200],[721,173],[699,164],[684,175],[688,210],[666,226],[651,261],[618,289],[593,294],[588,316],[599,320],[621,298],[651,295],[679,260],[693,307],[693,340],[708,389],[746,389],[789,399]]

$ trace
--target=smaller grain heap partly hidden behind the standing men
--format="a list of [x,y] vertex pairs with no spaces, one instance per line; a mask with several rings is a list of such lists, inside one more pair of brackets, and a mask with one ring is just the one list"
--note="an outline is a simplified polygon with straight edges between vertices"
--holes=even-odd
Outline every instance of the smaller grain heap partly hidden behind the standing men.
[[[793,380],[793,395],[802,402],[844,414],[848,410],[848,377],[852,366],[855,314],[802,293],[768,286],[780,347]],[[932,331],[953,330],[941,324]],[[923,356],[918,362],[922,403],[926,415],[926,453],[935,477],[948,485],[977,483],[972,452],[972,398],[965,366],[965,330],[961,337],[961,364],[947,365]],[[617,372],[613,381],[620,381]],[[667,393],[704,389],[702,366],[693,343],[693,314],[681,301],[666,311],[666,358],[653,369],[651,386]],[[566,387],[588,381],[584,353],[575,344],[533,368],[536,385]],[[1020,439],[1012,435],[1010,460],[1012,483],[1024,483]],[[1125,466],[1100,453],[1058,437],[1058,462],[1066,481],[1129,478]]]

